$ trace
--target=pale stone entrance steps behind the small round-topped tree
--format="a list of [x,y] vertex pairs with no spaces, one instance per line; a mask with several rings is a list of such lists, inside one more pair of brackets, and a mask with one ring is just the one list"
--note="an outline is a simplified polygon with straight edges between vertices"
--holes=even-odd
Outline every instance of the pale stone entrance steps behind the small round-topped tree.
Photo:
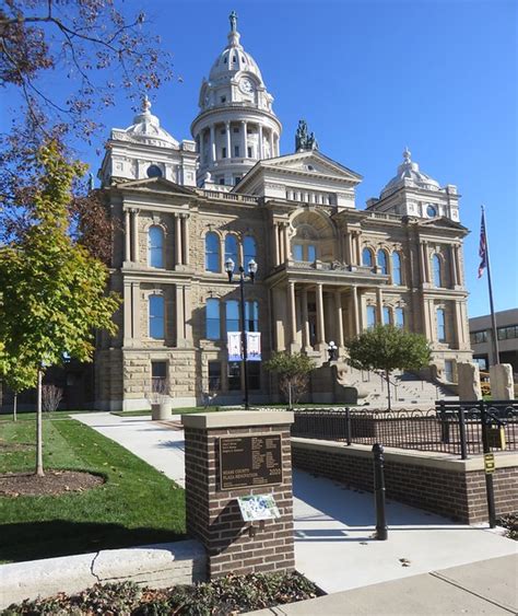
[[[355,370],[348,365],[341,372],[340,383],[356,387],[360,405],[387,407],[387,382],[379,373]],[[423,380],[412,372],[395,371],[390,375],[390,383],[392,408],[433,408],[438,399],[458,399],[447,386]]]

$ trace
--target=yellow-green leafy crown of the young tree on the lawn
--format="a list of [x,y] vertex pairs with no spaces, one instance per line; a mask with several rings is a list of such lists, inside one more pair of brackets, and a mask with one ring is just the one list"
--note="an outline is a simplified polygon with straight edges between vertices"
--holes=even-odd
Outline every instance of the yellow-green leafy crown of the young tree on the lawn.
[[63,352],[80,361],[93,353],[93,329],[115,333],[119,305],[105,294],[106,267],[70,237],[67,206],[82,165],[68,163],[56,142],[37,152],[40,170],[28,228],[16,243],[0,247],[0,340],[5,374],[26,367],[25,385],[36,384],[35,369],[62,362]]

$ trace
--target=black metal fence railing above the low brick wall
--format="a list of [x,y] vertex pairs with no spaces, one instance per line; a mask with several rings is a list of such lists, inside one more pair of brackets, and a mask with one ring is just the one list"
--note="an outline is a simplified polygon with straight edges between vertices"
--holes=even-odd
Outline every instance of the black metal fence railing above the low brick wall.
[[293,437],[342,441],[460,455],[480,454],[482,418],[487,418],[491,449],[505,440],[518,450],[518,400],[438,402],[428,410],[304,409],[295,412]]

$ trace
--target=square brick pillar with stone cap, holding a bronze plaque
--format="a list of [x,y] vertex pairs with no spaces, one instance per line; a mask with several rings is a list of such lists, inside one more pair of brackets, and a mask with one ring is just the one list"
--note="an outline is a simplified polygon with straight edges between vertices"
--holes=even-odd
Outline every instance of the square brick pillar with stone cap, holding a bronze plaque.
[[204,412],[181,422],[187,532],[205,546],[209,577],[292,571],[293,414]]

